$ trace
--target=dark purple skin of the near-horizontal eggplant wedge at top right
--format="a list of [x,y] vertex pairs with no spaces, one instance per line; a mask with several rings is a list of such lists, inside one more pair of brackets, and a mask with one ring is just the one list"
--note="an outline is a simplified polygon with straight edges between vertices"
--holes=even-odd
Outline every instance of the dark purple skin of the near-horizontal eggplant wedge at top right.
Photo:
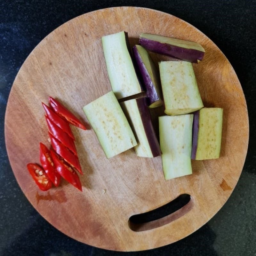
[[182,48],[171,44],[160,43],[143,37],[140,37],[139,44],[150,52],[164,54],[192,63],[198,63],[198,60],[201,61],[204,58],[204,52],[195,49]]

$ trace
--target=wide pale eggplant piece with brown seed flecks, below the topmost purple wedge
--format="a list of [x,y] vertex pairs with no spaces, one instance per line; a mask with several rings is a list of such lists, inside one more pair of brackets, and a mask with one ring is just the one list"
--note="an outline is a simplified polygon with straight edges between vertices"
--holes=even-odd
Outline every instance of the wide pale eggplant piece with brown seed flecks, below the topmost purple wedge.
[[203,108],[192,63],[187,61],[159,62],[164,96],[164,113],[183,115]]

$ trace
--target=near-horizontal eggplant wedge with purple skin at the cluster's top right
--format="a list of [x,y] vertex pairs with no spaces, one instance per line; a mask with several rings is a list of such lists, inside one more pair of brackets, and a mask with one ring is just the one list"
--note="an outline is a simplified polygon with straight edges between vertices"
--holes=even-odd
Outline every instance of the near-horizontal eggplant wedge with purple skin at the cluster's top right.
[[204,58],[205,50],[201,44],[177,38],[140,34],[139,44],[148,51],[172,56],[193,63],[198,63]]

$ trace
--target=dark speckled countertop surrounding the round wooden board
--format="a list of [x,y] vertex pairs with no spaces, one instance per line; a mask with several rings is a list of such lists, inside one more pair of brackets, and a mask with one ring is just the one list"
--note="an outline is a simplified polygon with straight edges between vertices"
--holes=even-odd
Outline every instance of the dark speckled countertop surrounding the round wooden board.
[[[143,2],[0,2],[0,255],[256,255],[256,1]],[[52,227],[36,212],[18,186],[8,161],[4,114],[20,66],[47,34],[83,13],[128,5],[171,13],[194,25],[219,46],[234,67],[244,90],[250,118],[250,142],[244,170],[234,192],[207,224],[174,244],[145,252],[123,253],[79,243]]]

